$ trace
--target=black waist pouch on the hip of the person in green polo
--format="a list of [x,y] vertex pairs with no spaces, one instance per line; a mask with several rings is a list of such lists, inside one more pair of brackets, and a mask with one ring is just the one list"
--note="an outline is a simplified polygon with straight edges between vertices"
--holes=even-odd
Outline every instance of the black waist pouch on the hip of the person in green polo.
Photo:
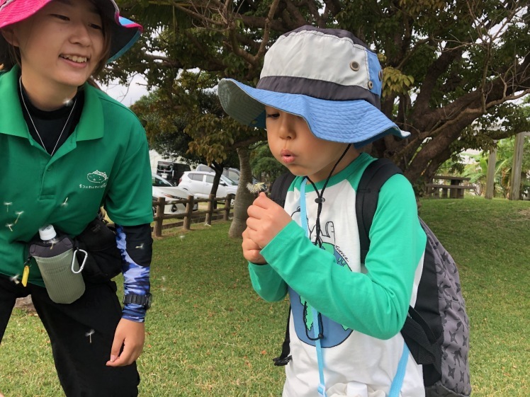
[[[107,282],[121,272],[121,253],[116,246],[115,232],[100,217],[91,221],[75,238],[77,246],[88,253],[83,272],[88,282]],[[77,253],[83,260],[83,253]],[[81,263],[79,262],[79,263]]]

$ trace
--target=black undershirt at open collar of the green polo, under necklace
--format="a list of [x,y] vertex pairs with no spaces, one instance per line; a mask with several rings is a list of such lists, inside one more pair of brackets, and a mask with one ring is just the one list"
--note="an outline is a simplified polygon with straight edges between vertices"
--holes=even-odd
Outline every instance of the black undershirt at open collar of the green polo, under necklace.
[[[77,126],[77,123],[81,118],[81,112],[83,110],[84,105],[83,91],[77,91],[76,96],[72,98],[69,105],[64,105],[62,108],[51,111],[45,111],[35,108],[35,106],[28,98],[24,87],[22,87],[22,95],[24,96],[24,101],[26,102],[28,111],[26,111],[26,108],[24,107],[24,103],[21,97],[21,91],[19,90],[18,98],[21,101],[22,113],[24,115],[24,120],[26,120],[26,124],[28,125],[28,130],[31,134],[31,137],[33,137],[33,139],[35,139],[35,142],[37,142],[41,146],[44,142],[43,147],[49,154],[52,154],[52,151],[57,143],[57,147],[55,147],[55,152],[57,152],[57,150],[62,146],[62,144],[64,144],[64,142],[66,142],[72,132],[74,132],[75,127]],[[74,101],[75,108],[72,113],[72,116],[70,116],[68,120],[68,116],[72,111],[72,105],[74,105]],[[31,115],[31,118],[28,115],[28,112]],[[33,122],[35,123],[35,127],[37,128],[38,133],[35,131],[35,127],[33,127],[33,123],[31,122],[31,120],[33,120]],[[67,120],[67,126],[64,127],[64,124],[67,122]],[[64,132],[62,132],[63,127]],[[39,135],[40,138],[43,139],[43,142],[40,142]],[[61,137],[59,137],[60,135]],[[57,139],[59,139],[59,142],[57,142]]]

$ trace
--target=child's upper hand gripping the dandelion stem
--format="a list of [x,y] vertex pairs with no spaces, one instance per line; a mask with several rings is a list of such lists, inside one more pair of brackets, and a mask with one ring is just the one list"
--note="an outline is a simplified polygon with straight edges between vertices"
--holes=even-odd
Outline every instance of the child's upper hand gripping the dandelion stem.
[[245,233],[259,248],[264,248],[291,221],[285,209],[269,199],[264,192],[259,193],[247,213],[249,217]]

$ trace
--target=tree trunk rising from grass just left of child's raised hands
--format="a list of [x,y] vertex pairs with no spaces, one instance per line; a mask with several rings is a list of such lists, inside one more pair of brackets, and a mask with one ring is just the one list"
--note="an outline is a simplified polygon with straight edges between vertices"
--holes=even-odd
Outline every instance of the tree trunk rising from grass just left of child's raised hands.
[[250,151],[247,147],[237,148],[239,156],[239,185],[234,202],[234,219],[230,225],[228,236],[231,238],[241,238],[244,229],[247,229],[247,208],[256,197],[247,188],[247,184],[252,183],[252,171],[250,169]]

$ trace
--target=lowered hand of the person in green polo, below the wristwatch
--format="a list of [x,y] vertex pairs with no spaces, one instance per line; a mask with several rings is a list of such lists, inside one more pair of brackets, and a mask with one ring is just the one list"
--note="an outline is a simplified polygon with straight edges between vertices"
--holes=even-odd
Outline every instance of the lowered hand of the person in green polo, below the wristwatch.
[[[145,323],[122,318],[116,327],[108,367],[123,367],[133,364],[144,349]],[[123,352],[120,354],[121,347]]]

